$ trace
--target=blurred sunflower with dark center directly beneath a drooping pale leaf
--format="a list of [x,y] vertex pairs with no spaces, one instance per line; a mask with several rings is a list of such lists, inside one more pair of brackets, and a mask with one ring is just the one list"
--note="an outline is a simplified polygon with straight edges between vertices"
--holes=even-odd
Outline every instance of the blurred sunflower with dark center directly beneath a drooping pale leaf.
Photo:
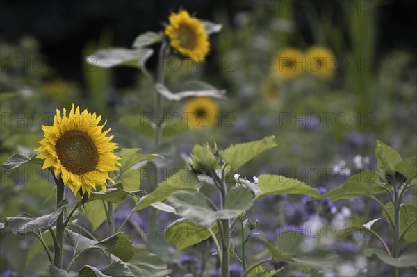
[[218,104],[210,97],[195,97],[183,106],[183,115],[190,128],[204,128],[215,125]]

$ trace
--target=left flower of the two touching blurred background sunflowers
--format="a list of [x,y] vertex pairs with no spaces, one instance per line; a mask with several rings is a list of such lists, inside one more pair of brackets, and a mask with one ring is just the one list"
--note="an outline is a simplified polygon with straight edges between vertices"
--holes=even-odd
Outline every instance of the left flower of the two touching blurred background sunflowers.
[[283,79],[292,79],[304,70],[304,56],[302,51],[293,47],[287,47],[280,51],[274,58],[275,74]]

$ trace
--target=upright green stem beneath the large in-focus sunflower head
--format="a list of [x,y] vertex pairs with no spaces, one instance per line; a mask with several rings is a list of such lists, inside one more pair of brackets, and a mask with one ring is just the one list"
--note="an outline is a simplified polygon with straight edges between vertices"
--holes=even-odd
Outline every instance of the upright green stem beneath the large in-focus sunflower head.
[[[59,207],[60,203],[64,200],[65,185],[61,176],[56,178],[56,208]],[[63,267],[63,243],[64,243],[64,212],[61,212],[56,219],[56,246],[54,254],[54,265],[58,269]]]

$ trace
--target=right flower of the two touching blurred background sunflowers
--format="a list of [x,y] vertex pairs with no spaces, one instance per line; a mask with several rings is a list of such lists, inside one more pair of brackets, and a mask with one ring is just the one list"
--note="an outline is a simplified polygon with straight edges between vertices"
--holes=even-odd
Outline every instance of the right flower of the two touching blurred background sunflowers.
[[322,78],[332,76],[336,69],[332,50],[325,47],[313,46],[307,50],[306,65],[309,71]]

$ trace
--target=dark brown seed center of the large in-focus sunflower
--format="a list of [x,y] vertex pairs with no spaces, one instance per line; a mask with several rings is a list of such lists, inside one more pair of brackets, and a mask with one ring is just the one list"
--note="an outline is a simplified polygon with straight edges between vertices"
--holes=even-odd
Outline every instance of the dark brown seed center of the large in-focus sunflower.
[[83,131],[67,131],[56,142],[55,149],[60,162],[72,174],[93,171],[99,162],[97,147]]

